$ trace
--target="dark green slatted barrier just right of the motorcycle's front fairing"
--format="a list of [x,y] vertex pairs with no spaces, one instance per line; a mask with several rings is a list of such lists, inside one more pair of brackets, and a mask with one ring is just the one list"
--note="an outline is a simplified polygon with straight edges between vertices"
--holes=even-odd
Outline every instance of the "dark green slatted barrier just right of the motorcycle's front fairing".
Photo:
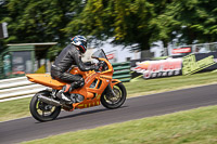
[[130,81],[130,62],[113,63],[112,66],[114,68],[113,79],[118,79],[122,82]]

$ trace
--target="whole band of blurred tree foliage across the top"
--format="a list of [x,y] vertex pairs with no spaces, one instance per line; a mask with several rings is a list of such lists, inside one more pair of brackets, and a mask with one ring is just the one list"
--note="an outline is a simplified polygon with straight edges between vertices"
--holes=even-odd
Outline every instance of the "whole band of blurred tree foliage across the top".
[[[114,39],[114,43],[150,49],[154,41],[217,39],[216,0],[5,0],[0,22],[8,22],[4,42],[58,41],[75,35]],[[52,51],[52,50],[51,50]]]

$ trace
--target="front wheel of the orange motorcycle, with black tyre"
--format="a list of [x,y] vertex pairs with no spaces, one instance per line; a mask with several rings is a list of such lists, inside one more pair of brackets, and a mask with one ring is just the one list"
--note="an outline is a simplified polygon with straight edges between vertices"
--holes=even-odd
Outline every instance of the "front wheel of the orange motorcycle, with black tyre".
[[123,83],[117,83],[113,87],[115,96],[112,93],[104,93],[101,96],[101,103],[104,107],[108,109],[115,109],[120,107],[126,100],[127,91]]

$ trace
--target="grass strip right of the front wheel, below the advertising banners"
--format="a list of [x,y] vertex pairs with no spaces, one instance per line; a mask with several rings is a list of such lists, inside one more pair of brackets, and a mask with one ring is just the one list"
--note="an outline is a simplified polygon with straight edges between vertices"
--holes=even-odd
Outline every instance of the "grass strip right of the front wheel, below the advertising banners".
[[176,76],[144,80],[139,78],[125,83],[128,96],[179,90],[203,84],[217,83],[217,73],[201,73],[191,76]]

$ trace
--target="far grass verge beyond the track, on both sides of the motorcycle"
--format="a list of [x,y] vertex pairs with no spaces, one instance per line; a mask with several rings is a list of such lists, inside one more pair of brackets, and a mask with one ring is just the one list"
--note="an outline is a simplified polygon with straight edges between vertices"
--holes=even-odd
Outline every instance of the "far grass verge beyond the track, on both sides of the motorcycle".
[[[191,88],[217,82],[217,73],[203,73],[192,76],[176,76],[144,80],[142,78],[124,83],[128,97],[156,92]],[[30,116],[29,99],[0,103],[0,121]]]

